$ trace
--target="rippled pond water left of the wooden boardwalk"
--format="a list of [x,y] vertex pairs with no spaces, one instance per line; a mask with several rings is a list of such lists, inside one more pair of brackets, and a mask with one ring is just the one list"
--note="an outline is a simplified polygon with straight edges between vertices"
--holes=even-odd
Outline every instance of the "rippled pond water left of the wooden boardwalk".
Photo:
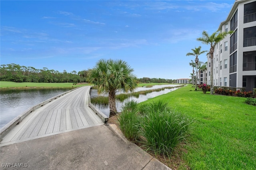
[[68,89],[22,89],[0,91],[0,128],[33,107],[47,99],[60,95]]

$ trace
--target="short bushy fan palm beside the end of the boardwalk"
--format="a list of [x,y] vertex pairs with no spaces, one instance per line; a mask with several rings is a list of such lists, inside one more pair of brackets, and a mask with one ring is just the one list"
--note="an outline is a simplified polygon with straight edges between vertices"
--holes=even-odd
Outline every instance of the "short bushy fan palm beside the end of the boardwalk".
[[117,114],[116,92],[136,89],[136,76],[132,74],[133,71],[125,61],[112,59],[100,59],[90,70],[88,77],[90,83],[97,86],[98,94],[108,92],[109,117]]

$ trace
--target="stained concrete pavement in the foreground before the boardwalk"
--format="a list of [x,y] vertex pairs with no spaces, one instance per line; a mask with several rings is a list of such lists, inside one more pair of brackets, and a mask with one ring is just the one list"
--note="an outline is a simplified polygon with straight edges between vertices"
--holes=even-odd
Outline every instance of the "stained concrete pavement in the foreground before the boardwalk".
[[[170,170],[126,140],[115,125],[99,125],[2,146],[0,162],[3,170]],[[4,167],[8,163],[11,168]],[[17,168],[20,165],[24,167]]]

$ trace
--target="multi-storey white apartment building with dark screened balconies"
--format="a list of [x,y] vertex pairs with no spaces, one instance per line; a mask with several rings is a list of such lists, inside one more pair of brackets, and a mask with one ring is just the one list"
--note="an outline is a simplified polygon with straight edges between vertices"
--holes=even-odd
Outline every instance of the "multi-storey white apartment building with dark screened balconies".
[[213,74],[214,86],[252,91],[256,88],[256,1],[236,0],[218,30],[234,33],[215,45],[213,63],[207,56],[207,84],[210,85]]

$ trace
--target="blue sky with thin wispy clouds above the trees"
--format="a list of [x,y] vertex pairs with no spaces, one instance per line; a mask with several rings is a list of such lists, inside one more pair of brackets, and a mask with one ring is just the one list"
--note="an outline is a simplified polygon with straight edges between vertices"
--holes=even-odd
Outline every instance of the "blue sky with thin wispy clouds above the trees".
[[[82,71],[122,59],[138,78],[189,78],[192,48],[234,0],[0,1],[0,64]],[[199,56],[206,62],[206,55]]]

